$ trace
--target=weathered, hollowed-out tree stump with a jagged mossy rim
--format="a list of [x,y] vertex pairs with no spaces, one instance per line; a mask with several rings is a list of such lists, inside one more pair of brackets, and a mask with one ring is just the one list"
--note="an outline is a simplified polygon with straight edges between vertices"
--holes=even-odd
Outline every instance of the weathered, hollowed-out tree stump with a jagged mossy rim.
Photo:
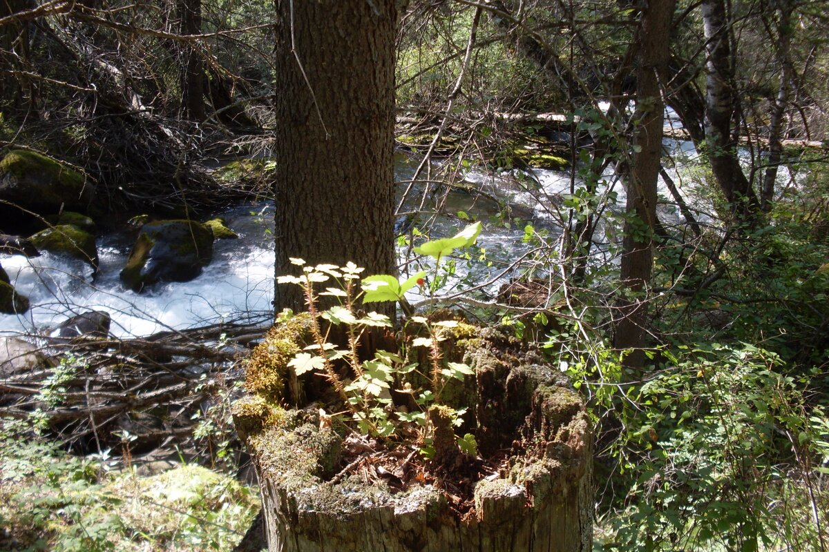
[[291,346],[291,338],[302,334],[293,324],[281,333],[271,330],[259,346],[268,348],[270,368],[281,371],[283,382],[262,378],[266,370],[259,353],[250,372],[269,382],[266,392],[234,407],[237,430],[259,475],[269,550],[591,550],[588,416],[570,383],[540,355],[492,329],[467,332],[449,346],[448,355],[463,358],[475,375],[453,382],[457,385],[444,396],[456,408],[467,403],[465,418],[473,418],[467,425],[481,457],[509,453],[499,472],[475,483],[473,506],[461,513],[437,485],[401,489],[359,470],[342,472],[344,432],[320,420],[318,405],[278,406],[277,395],[280,402],[302,395],[301,383],[279,367],[303,344]]

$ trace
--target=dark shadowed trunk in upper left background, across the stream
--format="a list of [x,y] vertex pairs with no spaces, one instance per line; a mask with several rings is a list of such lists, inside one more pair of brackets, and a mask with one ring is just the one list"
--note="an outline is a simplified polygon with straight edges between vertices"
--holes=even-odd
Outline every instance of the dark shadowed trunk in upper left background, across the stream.
[[[184,36],[201,33],[201,0],[178,0],[176,9],[179,18],[178,31]],[[181,116],[190,121],[205,118],[205,68],[201,52],[195,47],[193,38],[181,51]]]

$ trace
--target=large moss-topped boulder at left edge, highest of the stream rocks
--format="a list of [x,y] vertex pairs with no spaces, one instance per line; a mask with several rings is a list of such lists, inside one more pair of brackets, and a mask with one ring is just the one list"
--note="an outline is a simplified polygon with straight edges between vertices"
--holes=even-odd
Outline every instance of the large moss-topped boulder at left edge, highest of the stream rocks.
[[27,209],[57,214],[61,209],[85,212],[95,200],[95,185],[84,175],[34,151],[9,151],[0,161],[0,199],[20,209],[3,212],[20,218]]

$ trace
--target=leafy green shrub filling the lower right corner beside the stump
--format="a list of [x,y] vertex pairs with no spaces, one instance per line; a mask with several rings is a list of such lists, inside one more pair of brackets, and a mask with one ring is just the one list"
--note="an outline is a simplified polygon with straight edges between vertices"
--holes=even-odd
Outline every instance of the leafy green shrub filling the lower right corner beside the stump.
[[[603,381],[618,382],[618,364],[604,360]],[[672,362],[642,385],[596,389],[594,411],[613,409],[623,428],[602,456],[627,488],[610,505],[620,510],[604,550],[817,550],[811,512],[826,511],[829,495],[812,487],[809,458],[826,454],[829,422],[822,410],[808,421],[809,380],[749,344],[712,343]],[[579,375],[579,364],[569,369]]]

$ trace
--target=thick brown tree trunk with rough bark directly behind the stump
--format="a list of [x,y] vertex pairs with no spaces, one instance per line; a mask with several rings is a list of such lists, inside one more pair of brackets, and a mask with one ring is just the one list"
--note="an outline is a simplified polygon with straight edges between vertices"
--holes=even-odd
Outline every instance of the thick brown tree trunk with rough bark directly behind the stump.
[[[276,274],[395,273],[394,0],[277,0]],[[298,286],[274,307],[303,310]]]

